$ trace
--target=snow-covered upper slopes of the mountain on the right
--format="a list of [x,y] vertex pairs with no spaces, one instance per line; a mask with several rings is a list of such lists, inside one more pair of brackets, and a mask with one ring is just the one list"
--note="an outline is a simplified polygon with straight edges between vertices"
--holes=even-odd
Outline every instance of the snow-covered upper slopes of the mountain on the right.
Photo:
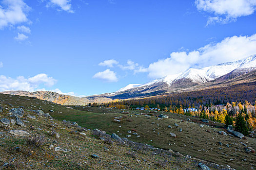
[[[168,88],[171,88],[176,84],[179,86],[180,85],[184,86],[184,84],[186,84],[185,86],[188,87],[188,86],[207,83],[209,81],[216,80],[221,76],[228,75],[231,73],[233,73],[233,76],[231,77],[234,78],[236,76],[247,73],[254,69],[256,69],[256,55],[251,55],[245,58],[244,60],[221,63],[218,65],[199,68],[199,69],[189,68],[186,71],[183,71],[179,74],[167,75],[163,78],[159,78],[145,84],[130,84],[119,89],[116,93],[124,92],[126,90],[134,91],[138,89],[141,91],[141,90],[150,89],[153,87],[155,88],[158,86],[158,84],[161,84],[161,86],[163,86],[162,84],[166,84]],[[235,75],[234,75],[234,72],[236,72]],[[221,80],[223,81],[226,78],[222,78]]]

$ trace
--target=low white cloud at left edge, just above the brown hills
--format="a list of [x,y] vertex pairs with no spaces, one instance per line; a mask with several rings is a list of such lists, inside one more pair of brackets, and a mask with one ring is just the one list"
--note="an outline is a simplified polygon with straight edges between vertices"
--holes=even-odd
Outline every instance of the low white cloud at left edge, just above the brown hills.
[[49,77],[47,74],[38,74],[34,77],[24,78],[18,76],[17,78],[11,78],[5,75],[0,75],[0,91],[8,90],[25,90],[35,91],[39,85],[52,86],[57,83],[53,77]]

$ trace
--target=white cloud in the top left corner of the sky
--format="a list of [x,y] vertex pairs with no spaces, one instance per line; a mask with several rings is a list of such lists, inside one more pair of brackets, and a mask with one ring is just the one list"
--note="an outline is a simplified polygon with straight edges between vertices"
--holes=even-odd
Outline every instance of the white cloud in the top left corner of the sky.
[[23,0],[2,0],[0,2],[0,29],[28,22],[27,13],[30,9]]

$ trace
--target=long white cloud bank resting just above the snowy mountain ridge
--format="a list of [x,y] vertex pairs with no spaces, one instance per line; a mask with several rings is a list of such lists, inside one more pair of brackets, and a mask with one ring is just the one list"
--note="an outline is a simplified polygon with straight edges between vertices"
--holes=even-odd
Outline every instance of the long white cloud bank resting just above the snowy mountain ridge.
[[223,62],[236,61],[256,54],[256,34],[226,37],[219,43],[210,43],[194,51],[172,52],[169,58],[140,67],[135,72],[148,72],[151,78],[177,74],[188,68],[202,68]]

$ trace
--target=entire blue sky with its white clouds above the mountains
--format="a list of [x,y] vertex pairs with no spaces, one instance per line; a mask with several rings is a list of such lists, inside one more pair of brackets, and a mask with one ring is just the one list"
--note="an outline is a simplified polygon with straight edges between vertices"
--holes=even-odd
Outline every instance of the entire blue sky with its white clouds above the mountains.
[[256,53],[256,0],[0,0],[0,91],[115,92]]

